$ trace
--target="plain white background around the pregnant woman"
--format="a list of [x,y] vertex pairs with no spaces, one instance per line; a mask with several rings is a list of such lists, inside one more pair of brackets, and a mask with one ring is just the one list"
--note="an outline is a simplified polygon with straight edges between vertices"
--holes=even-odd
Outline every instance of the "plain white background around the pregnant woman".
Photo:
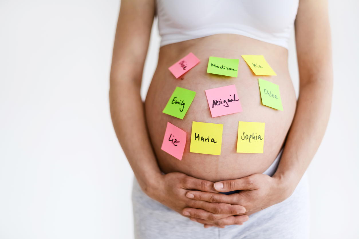
[[[334,92],[308,169],[311,234],[350,239],[359,238],[359,2],[329,2]],[[133,237],[133,173],[108,105],[118,10],[117,0],[0,1],[1,239]],[[154,25],[143,96],[159,40]],[[296,64],[292,39],[298,89]]]

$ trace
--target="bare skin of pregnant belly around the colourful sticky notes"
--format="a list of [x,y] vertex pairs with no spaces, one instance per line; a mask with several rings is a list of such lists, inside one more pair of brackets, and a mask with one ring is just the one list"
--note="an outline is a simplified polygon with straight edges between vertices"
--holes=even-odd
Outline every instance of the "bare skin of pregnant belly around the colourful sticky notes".
[[[200,59],[200,63],[176,79],[168,67],[190,52]],[[264,55],[277,76],[256,76],[241,57],[242,54]],[[238,77],[207,73],[210,56],[239,59]],[[258,78],[279,85],[283,111],[262,104]],[[212,117],[205,90],[230,85],[236,87],[236,100],[239,100],[242,112]],[[162,113],[177,86],[196,92],[183,119]],[[232,95],[230,100],[234,100]],[[216,104],[221,105],[219,102]],[[162,47],[145,101],[149,135],[160,169],[164,173],[183,172],[210,181],[241,178],[264,172],[283,147],[295,107],[295,92],[288,72],[286,49],[231,34],[213,35]],[[220,155],[190,152],[190,143],[194,140],[191,139],[193,121],[223,125]],[[263,153],[237,153],[239,121],[265,123]],[[187,133],[181,161],[161,150],[167,122]],[[258,136],[252,132],[248,134],[253,135],[252,141],[253,138],[258,140]],[[249,140],[246,135],[242,135],[242,138]],[[211,139],[205,142],[214,144]]]

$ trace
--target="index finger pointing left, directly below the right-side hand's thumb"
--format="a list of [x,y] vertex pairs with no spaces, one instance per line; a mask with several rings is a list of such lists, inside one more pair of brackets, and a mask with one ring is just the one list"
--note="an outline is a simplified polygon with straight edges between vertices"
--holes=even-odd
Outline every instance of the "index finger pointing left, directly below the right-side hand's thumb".
[[[202,192],[202,191],[189,191],[186,193],[186,197],[195,200],[217,202],[217,203],[228,203],[228,204],[241,204],[241,195],[239,193],[233,193],[225,195],[222,193]],[[244,209],[244,207],[243,207]]]

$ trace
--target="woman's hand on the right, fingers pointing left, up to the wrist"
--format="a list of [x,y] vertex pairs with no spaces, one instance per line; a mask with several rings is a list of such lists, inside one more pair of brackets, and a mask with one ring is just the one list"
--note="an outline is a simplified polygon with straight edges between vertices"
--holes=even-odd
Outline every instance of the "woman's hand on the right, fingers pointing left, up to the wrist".
[[[239,193],[225,195],[222,193],[189,191],[186,193],[186,196],[191,199],[207,202],[242,205],[246,208],[244,214],[249,216],[287,199],[294,189],[291,190],[292,187],[288,187],[286,184],[287,183],[283,183],[283,180],[280,180],[280,178],[256,173],[248,177],[220,181],[214,184],[215,189],[218,192],[241,190]],[[204,224],[205,228],[213,225],[225,226],[236,224],[236,217],[238,215],[243,215],[236,214],[226,218],[213,220],[215,218],[213,215],[210,215],[208,212],[201,209],[186,207],[182,210],[182,212],[184,211],[190,214],[190,219],[192,221]]]

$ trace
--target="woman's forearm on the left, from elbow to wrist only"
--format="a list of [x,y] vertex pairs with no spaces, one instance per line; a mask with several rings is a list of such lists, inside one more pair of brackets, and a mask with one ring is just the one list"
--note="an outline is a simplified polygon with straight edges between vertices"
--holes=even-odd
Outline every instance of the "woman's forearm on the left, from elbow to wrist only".
[[134,83],[112,83],[109,92],[113,126],[141,188],[146,192],[160,176],[146,129],[140,87]]

